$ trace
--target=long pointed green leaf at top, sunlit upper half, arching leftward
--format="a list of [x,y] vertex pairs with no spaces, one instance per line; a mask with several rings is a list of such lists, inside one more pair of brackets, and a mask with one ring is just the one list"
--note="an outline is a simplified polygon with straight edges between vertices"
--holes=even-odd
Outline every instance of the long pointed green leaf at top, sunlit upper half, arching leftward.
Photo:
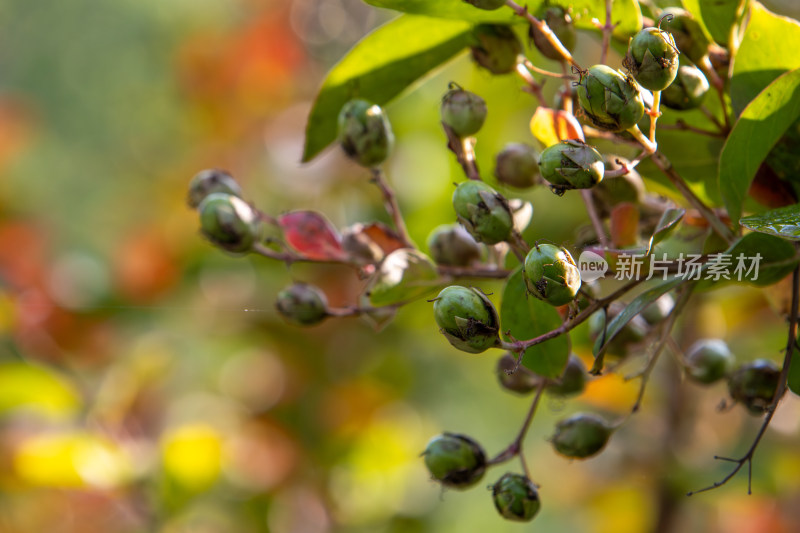
[[470,42],[472,25],[404,15],[376,29],[328,73],[306,125],[303,161],[336,139],[342,106],[359,97],[384,105]]

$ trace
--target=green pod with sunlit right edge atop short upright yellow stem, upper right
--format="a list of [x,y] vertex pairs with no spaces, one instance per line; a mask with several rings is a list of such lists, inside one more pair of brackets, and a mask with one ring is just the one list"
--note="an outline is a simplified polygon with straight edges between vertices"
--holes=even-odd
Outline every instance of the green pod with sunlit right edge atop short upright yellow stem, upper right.
[[678,74],[679,55],[672,34],[651,27],[633,36],[622,64],[645,89],[663,91]]

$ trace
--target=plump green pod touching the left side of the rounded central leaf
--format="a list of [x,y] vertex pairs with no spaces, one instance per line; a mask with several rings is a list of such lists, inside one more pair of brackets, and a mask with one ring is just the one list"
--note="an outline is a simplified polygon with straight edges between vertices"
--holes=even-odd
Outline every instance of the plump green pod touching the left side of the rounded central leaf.
[[459,350],[481,353],[499,340],[497,311],[478,289],[445,287],[433,302],[433,317],[442,334]]

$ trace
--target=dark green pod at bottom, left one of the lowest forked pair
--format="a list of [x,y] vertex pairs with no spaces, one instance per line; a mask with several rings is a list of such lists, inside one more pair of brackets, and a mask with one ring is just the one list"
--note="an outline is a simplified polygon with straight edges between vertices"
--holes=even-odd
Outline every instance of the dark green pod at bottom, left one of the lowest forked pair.
[[483,448],[465,435],[438,435],[431,439],[422,455],[433,479],[445,487],[466,489],[480,481],[486,472]]

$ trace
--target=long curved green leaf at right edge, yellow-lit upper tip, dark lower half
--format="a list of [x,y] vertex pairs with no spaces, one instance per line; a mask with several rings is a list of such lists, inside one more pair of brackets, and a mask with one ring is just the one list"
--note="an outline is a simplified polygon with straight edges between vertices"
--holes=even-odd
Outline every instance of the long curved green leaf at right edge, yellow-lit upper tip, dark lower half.
[[720,192],[734,223],[742,215],[742,202],[758,167],[798,117],[800,69],[770,83],[742,112],[719,163]]

